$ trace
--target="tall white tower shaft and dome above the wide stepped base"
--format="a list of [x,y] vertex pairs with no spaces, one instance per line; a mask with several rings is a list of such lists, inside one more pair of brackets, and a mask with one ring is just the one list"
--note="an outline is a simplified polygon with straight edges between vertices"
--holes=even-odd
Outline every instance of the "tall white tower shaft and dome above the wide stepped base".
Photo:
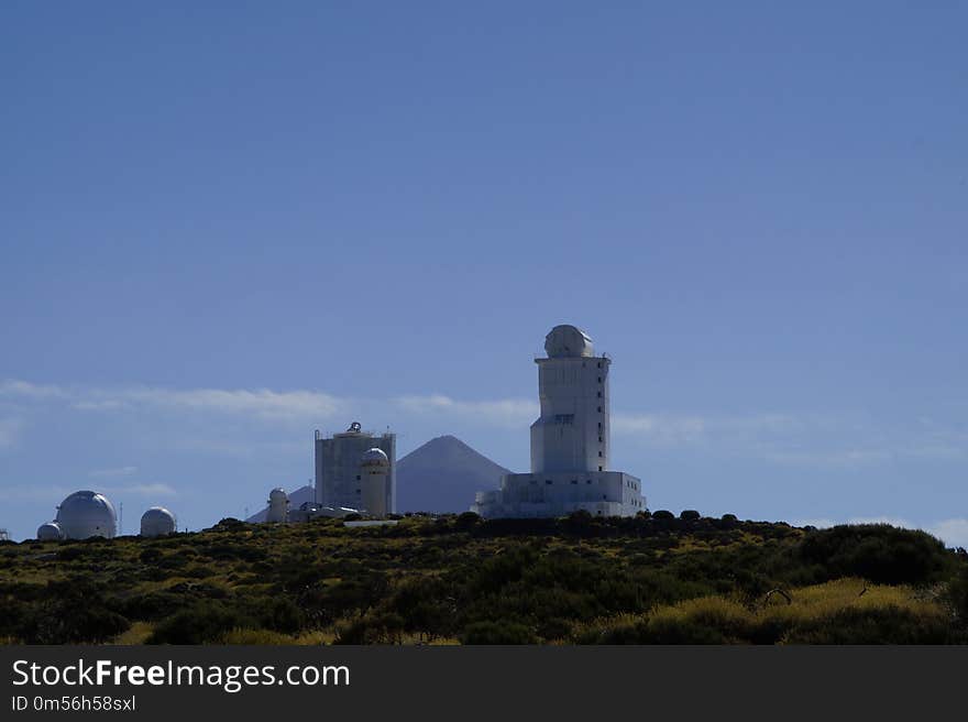
[[531,424],[531,472],[608,469],[608,365],[588,335],[556,326],[538,364],[541,416]]

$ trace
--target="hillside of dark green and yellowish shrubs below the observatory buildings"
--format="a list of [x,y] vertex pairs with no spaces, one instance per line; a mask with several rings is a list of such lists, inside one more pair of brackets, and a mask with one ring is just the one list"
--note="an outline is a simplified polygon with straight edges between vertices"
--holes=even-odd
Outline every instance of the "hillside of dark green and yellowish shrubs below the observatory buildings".
[[968,642],[968,555],[888,525],[407,517],[0,545],[0,639],[65,644]]

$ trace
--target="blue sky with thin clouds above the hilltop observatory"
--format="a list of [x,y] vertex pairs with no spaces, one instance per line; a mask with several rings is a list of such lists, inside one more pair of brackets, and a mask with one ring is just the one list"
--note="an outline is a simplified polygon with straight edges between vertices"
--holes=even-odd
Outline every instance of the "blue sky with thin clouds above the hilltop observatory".
[[0,526],[525,470],[573,322],[652,508],[968,545],[968,7],[782,4],[4,2]]

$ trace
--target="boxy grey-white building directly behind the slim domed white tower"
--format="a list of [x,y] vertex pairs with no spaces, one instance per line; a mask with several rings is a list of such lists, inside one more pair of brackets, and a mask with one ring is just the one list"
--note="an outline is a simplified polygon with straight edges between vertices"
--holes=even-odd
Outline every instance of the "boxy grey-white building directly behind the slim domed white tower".
[[[373,449],[382,451],[386,461],[386,466],[383,461],[376,464],[381,473],[364,471],[364,461],[376,461],[366,456]],[[381,480],[382,488],[377,489]],[[316,504],[334,513],[364,508],[364,489],[370,489],[371,504],[382,510],[376,514],[367,508],[367,513],[377,516],[396,512],[396,436],[364,431],[359,422],[331,438],[322,438],[316,431]]]

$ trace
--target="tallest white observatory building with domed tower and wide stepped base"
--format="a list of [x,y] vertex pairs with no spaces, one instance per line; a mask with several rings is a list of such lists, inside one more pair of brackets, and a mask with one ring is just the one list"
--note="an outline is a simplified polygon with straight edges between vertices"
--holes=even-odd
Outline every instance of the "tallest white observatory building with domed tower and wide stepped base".
[[485,518],[596,516],[645,511],[640,481],[608,471],[608,368],[592,339],[574,326],[556,326],[538,364],[541,416],[531,424],[531,472],[507,474],[501,489],[477,492],[471,511]]

